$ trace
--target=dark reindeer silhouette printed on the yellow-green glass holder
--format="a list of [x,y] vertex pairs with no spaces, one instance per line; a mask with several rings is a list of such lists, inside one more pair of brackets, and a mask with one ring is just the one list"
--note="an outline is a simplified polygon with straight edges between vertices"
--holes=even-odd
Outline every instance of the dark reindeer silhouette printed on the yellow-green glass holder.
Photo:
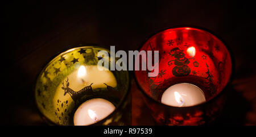
[[75,92],[73,89],[68,87],[69,82],[68,82],[68,78],[67,78],[66,87],[64,86],[64,81],[63,81],[62,82],[63,86],[61,87],[61,89],[64,90],[64,96],[68,93],[71,96],[71,98],[73,99],[73,101],[75,101],[75,103],[77,103],[78,101],[80,101],[81,97],[85,96],[86,94],[94,94],[94,92],[92,90],[92,84],[90,84],[89,86],[85,86],[78,92]]

